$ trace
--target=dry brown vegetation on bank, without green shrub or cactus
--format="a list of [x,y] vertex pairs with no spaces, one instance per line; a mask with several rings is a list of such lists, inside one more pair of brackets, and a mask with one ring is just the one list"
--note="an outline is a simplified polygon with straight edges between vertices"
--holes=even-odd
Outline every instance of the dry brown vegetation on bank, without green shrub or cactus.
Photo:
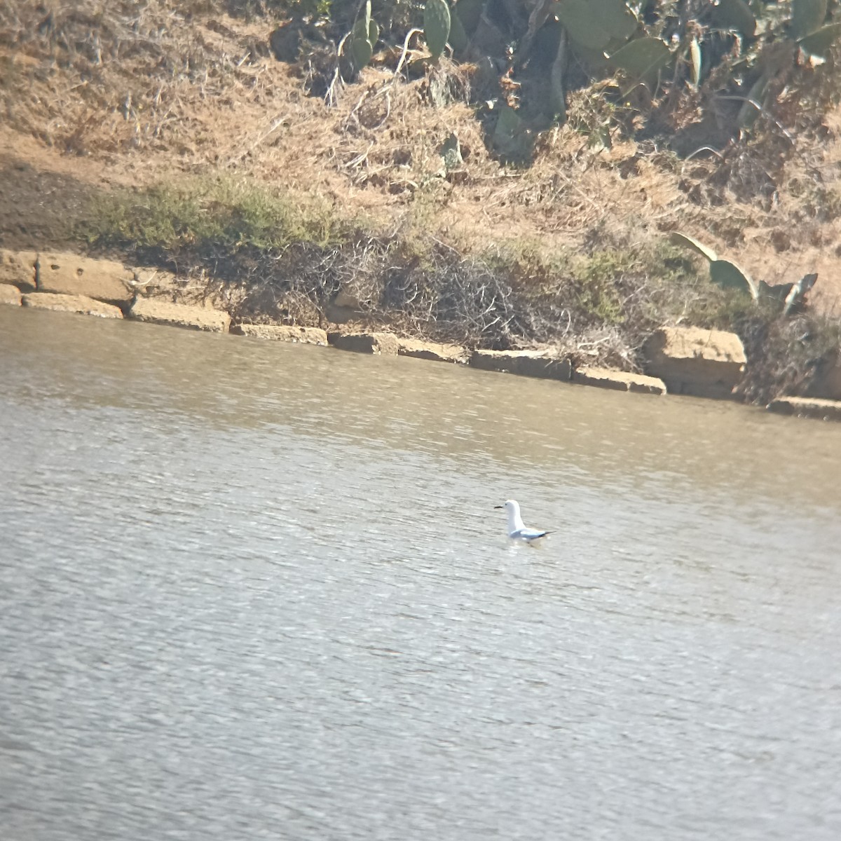
[[[296,66],[276,61],[278,22],[227,8],[0,0],[0,244],[81,248],[68,214],[96,215],[103,194],[221,178],[343,220],[335,242],[243,247],[235,259],[230,248],[141,251],[239,281],[230,299],[241,315],[323,319],[339,286],[356,284],[372,320],[405,331],[495,346],[553,340],[623,368],[659,321],[735,326],[754,360],[774,360],[751,399],[800,388],[835,341],[824,331],[789,352],[811,322],[769,327],[664,245],[672,230],[696,235],[772,284],[818,272],[807,317],[830,328],[841,318],[841,111],[815,104],[835,96],[831,75],[781,92],[776,122],[751,142],[711,153],[696,131],[682,156],[656,137],[593,148],[586,129],[603,103],[574,92],[569,123],[540,136],[531,166],[511,167],[489,151],[489,116],[471,104],[489,84],[476,67],[445,61],[437,79],[407,80],[394,72],[399,50],[382,50],[359,81],[331,87],[328,107],[308,94],[323,69],[317,45]],[[436,104],[441,79],[450,96]],[[452,134],[463,167],[447,172]],[[309,278],[291,307],[267,281],[280,269]]]

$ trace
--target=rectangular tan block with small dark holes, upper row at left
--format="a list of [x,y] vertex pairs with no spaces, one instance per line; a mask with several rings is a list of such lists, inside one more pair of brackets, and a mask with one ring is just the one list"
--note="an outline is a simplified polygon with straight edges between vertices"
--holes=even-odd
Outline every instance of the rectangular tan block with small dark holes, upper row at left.
[[108,304],[127,307],[135,295],[133,272],[114,260],[93,260],[77,254],[42,252],[38,255],[39,292],[87,295]]

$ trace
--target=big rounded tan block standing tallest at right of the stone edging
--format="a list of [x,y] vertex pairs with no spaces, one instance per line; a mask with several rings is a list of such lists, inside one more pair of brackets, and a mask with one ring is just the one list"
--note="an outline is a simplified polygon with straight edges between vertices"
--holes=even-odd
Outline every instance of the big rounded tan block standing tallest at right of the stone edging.
[[662,379],[669,394],[697,397],[730,397],[747,363],[735,333],[701,327],[662,327],[648,337],[643,354],[646,373]]

